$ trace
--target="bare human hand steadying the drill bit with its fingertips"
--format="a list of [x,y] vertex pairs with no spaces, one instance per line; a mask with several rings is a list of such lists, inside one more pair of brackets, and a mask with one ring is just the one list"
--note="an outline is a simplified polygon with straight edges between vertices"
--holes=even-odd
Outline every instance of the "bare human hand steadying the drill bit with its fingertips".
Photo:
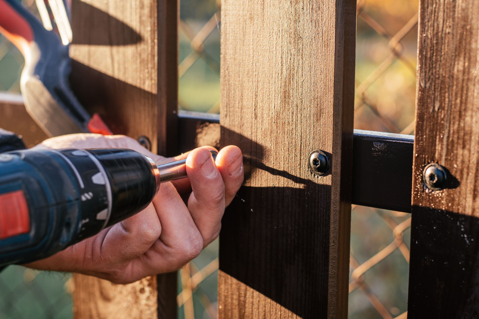
[[196,257],[217,238],[224,209],[243,182],[242,154],[231,145],[218,152],[216,163],[209,152],[213,147],[164,158],[120,135],[71,134],[50,138],[35,148],[129,148],[157,164],[186,158],[188,177],[162,183],[143,211],[51,257],[26,264],[118,284],[177,270]]

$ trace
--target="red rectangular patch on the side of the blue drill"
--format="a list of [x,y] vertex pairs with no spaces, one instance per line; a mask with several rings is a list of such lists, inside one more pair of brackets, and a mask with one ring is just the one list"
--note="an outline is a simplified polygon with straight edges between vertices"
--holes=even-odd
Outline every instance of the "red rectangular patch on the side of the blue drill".
[[22,190],[0,195],[0,239],[30,232],[30,214]]

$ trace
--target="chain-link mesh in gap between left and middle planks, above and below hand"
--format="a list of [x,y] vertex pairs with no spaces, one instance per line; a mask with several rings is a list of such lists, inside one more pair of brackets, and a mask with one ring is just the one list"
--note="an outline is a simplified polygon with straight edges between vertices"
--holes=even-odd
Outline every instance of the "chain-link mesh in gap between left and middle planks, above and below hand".
[[[219,113],[219,0],[180,1],[179,108]],[[178,318],[217,318],[218,241],[179,272]]]

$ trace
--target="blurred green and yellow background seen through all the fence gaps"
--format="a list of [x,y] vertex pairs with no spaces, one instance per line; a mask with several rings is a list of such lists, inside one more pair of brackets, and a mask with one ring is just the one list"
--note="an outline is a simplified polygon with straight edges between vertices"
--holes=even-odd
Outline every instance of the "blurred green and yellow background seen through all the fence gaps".
[[[23,4],[36,11],[33,0]],[[180,2],[179,107],[219,112],[220,1]],[[354,125],[411,134],[417,0],[359,0]],[[0,91],[20,92],[23,57],[0,36]],[[406,318],[410,215],[353,207],[349,318]],[[216,318],[218,242],[178,275],[179,318]],[[70,275],[10,266],[0,274],[0,319],[72,318]]]

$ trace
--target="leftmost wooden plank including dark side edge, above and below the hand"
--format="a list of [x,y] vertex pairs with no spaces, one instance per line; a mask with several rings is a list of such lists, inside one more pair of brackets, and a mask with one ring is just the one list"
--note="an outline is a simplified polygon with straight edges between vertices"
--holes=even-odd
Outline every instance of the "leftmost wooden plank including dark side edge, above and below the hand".
[[[71,85],[116,134],[145,135],[174,154],[178,91],[177,0],[73,0]],[[74,275],[75,318],[176,317],[176,274],[114,285]],[[157,285],[160,294],[157,294]]]

